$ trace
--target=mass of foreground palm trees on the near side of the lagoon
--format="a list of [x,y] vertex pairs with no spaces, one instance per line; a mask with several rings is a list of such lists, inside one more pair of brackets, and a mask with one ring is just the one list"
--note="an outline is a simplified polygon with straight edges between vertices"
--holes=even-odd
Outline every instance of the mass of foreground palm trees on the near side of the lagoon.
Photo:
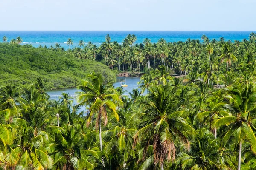
[[[228,72],[227,74],[232,74]],[[245,81],[244,77],[247,76]],[[241,78],[243,77],[243,78]],[[233,84],[178,79],[164,66],[125,96],[100,73],[50,100],[44,82],[0,87],[0,167],[23,170],[253,170],[253,73]],[[80,106],[88,109],[79,113]]]

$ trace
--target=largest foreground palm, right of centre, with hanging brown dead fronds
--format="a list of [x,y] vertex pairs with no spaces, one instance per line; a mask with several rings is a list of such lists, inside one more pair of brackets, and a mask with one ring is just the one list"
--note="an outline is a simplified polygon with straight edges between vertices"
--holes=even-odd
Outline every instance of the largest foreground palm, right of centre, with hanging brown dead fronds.
[[[175,99],[175,90],[170,91],[168,85],[158,85],[150,88],[150,93],[141,100],[143,114],[139,130],[134,136],[135,142],[140,140],[149,157],[141,165],[142,169],[154,163],[157,169],[164,170],[164,162],[175,159],[175,141],[188,144],[184,130],[193,130],[183,118],[183,111],[179,110],[181,102]],[[141,144],[142,144],[141,143]],[[149,149],[152,145],[153,150]]]

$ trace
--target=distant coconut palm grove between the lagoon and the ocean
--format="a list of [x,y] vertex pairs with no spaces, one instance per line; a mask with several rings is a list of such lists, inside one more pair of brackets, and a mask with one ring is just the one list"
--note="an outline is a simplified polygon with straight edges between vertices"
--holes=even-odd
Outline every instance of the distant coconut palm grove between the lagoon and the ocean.
[[[177,75],[189,75],[191,79],[202,78],[209,80],[209,85],[231,83],[220,81],[220,77],[226,76],[227,71],[238,71],[237,68],[254,69],[256,34],[252,32],[249,40],[242,42],[235,40],[225,41],[223,37],[218,40],[210,40],[203,35],[202,40],[188,39],[185,42],[166,42],[160,39],[157,43],[151,43],[146,38],[143,43],[134,44],[135,35],[128,35],[121,44],[111,42],[109,35],[106,41],[97,47],[91,42],[84,46],[79,41],[79,47],[68,49],[67,54],[78,59],[91,59],[105,63],[112,69],[119,71],[145,71],[165,65]],[[70,43],[73,42],[69,39]],[[47,48],[39,46],[39,48]],[[59,44],[48,48],[50,51],[64,51]],[[226,76],[226,80],[229,78]],[[232,84],[232,83],[231,83]]]

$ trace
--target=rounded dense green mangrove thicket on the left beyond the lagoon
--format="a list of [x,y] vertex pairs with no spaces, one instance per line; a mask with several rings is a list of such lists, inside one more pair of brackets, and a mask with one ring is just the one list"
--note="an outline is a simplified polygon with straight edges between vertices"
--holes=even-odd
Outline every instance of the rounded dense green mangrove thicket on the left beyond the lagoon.
[[107,66],[78,60],[61,51],[34,48],[32,45],[0,43],[0,84],[32,84],[37,77],[47,80],[46,89],[76,87],[87,73],[100,71],[108,81],[115,74]]

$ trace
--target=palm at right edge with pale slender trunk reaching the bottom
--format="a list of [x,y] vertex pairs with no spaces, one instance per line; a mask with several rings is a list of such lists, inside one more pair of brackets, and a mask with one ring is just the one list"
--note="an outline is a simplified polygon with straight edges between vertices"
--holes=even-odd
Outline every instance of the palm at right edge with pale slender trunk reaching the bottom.
[[238,85],[237,87],[227,88],[227,96],[229,103],[227,110],[230,111],[228,116],[219,117],[214,121],[212,127],[225,127],[225,131],[221,136],[222,147],[227,142],[233,140],[235,147],[239,145],[238,170],[241,169],[242,144],[247,139],[251,146],[251,151],[256,153],[256,136],[253,121],[256,119],[256,91],[253,85],[248,88]]

